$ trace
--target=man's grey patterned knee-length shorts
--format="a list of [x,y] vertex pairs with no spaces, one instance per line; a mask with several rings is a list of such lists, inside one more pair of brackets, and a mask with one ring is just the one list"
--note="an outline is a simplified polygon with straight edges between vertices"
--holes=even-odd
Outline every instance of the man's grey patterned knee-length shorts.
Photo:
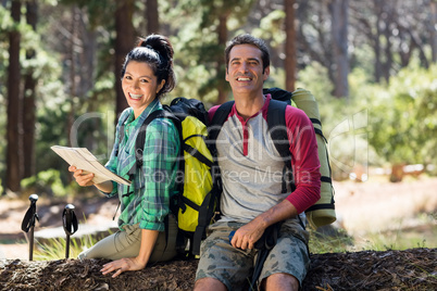
[[[196,280],[211,277],[223,282],[227,290],[249,286],[258,250],[240,250],[229,243],[229,232],[244,224],[216,223],[202,242]],[[262,268],[259,282],[273,274],[284,273],[296,277],[301,284],[310,257],[307,243],[296,231],[283,225],[276,245],[271,250]]]

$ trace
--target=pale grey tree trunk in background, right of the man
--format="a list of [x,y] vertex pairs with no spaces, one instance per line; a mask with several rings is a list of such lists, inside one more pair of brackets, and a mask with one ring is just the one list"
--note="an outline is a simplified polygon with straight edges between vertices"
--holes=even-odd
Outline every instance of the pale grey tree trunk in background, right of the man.
[[334,96],[337,98],[349,97],[348,8],[349,0],[333,0],[330,3],[334,63],[336,66]]

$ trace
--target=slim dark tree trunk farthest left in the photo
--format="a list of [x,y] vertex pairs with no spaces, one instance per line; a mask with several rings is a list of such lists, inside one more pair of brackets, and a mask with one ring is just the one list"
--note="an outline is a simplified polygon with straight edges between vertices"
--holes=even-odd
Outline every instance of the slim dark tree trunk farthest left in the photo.
[[[20,0],[13,0],[11,15],[14,22],[20,23],[21,18]],[[20,191],[22,179],[22,134],[21,107],[22,96],[20,90],[21,66],[20,46],[21,34],[13,29],[9,33],[9,67],[8,67],[8,149],[7,149],[7,180],[5,188],[11,191]]]

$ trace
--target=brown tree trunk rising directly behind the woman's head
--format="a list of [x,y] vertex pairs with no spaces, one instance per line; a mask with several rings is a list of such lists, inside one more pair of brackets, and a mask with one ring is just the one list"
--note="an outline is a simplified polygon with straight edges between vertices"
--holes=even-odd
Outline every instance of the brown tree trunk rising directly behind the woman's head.
[[121,71],[126,54],[135,46],[135,29],[132,23],[134,13],[134,0],[126,0],[117,2],[115,11],[115,91],[116,91],[116,105],[115,114],[118,116],[124,109],[126,109],[127,101],[122,90]]

